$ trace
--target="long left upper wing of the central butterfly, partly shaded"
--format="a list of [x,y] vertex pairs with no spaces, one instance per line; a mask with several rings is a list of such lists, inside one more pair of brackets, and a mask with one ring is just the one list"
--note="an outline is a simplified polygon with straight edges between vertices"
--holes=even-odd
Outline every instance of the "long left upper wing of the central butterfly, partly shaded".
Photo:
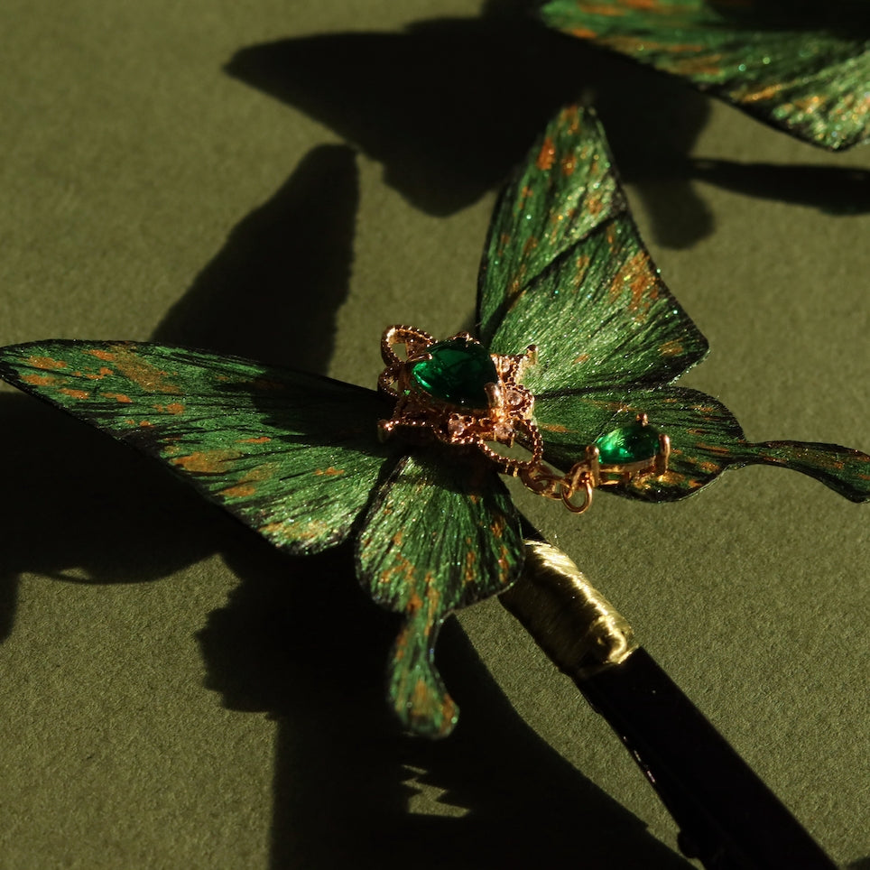
[[44,341],[0,348],[0,377],[162,459],[293,553],[347,538],[388,456],[376,393],[236,357]]

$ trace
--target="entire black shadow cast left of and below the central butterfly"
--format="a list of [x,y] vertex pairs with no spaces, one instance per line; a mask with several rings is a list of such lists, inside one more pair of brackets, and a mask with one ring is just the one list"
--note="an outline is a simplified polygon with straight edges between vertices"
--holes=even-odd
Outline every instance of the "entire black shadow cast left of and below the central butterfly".
[[[315,149],[239,223],[154,338],[325,368],[356,197],[351,150]],[[612,865],[616,849],[623,866],[686,866],[523,723],[458,625],[441,650],[463,706],[456,735],[400,735],[384,702],[396,622],[358,588],[347,548],[290,559],[124,445],[20,394],[0,404],[7,486],[18,494],[0,578],[7,632],[24,571],[150,582],[220,553],[239,578],[200,643],[208,688],[278,723],[273,867],[389,868],[409,854],[421,867],[510,867],[541,850],[560,865],[575,861],[583,832],[590,867]],[[463,814],[409,811],[421,789]]]

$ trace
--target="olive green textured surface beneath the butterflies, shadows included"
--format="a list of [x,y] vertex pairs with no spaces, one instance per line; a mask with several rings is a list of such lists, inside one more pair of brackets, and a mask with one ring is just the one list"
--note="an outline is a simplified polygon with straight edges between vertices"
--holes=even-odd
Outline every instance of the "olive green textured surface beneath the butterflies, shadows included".
[[[158,338],[374,384],[472,317],[498,180],[595,93],[750,437],[870,449],[870,151],[796,143],[492,0],[6,0],[0,343]],[[606,725],[496,602],[457,734],[394,734],[392,624],[162,469],[0,392],[0,866],[680,867]],[[868,866],[868,515],[750,468],[523,508],[842,865]]]

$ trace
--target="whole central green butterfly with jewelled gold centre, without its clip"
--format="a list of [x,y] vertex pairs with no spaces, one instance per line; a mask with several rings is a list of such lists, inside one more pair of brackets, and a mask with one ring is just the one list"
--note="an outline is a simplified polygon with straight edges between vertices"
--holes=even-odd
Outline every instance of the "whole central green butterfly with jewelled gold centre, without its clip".
[[477,337],[387,329],[378,391],[124,341],[4,347],[0,375],[160,458],[284,551],[355,541],[359,581],[404,617],[391,704],[425,736],[458,717],[433,661],[440,625],[523,567],[503,474],[578,511],[598,488],[671,501],[751,463],[870,497],[865,454],[749,442],[722,403],[672,383],[707,343],[651,262],[589,110],[560,112],[506,186],[477,303]]

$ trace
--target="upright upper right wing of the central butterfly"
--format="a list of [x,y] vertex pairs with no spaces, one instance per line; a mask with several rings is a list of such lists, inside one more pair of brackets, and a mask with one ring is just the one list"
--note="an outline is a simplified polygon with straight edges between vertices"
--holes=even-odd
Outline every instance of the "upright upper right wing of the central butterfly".
[[662,384],[706,354],[643,246],[591,110],[556,116],[505,189],[478,315],[495,353],[538,347],[523,374],[536,395]]

